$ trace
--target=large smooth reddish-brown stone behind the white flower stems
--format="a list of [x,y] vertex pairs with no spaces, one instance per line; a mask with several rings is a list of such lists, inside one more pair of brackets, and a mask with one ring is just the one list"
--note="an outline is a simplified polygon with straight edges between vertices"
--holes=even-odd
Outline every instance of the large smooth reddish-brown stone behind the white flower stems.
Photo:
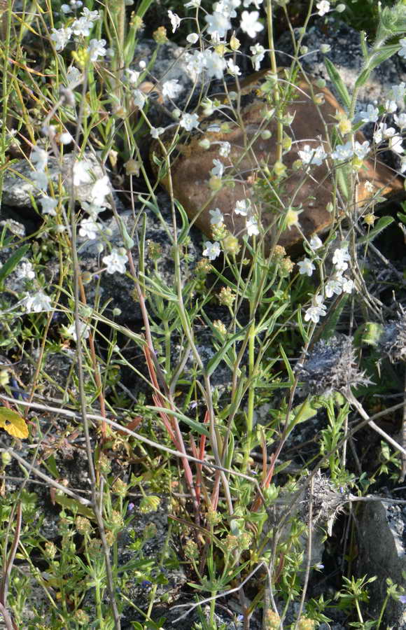
[[[258,90],[266,73],[255,73],[242,84],[243,94],[247,94],[246,99],[251,102],[241,106],[241,126],[230,122],[230,132],[207,131],[216,123],[213,117],[200,118],[200,130],[194,130],[186,144],[180,144],[171,155],[172,190],[174,197],[179,200],[185,208],[189,218],[197,225],[204,234],[211,238],[212,226],[210,224],[209,210],[218,207],[225,217],[225,225],[228,230],[238,237],[245,232],[246,218],[236,215],[233,212],[237,200],[250,198],[255,202],[253,183],[257,177],[261,178],[261,169],[267,165],[272,171],[276,161],[276,121],[273,118],[263,125],[265,112],[265,98]],[[260,211],[260,222],[266,231],[265,249],[269,251],[270,246],[276,241],[276,223],[279,218],[286,213],[288,207],[301,208],[300,228],[306,237],[315,232],[324,232],[332,221],[333,215],[327,210],[329,202],[332,202],[332,190],[335,186],[335,169],[331,169],[325,161],[320,166],[312,166],[309,172],[304,168],[294,169],[293,162],[299,158],[297,151],[304,149],[305,145],[316,149],[319,144],[323,144],[326,153],[331,151],[328,129],[337,127],[337,111],[344,113],[337,100],[327,88],[320,89],[314,83],[311,84],[314,94],[323,94],[324,103],[316,106],[311,97],[311,87],[305,80],[301,80],[295,94],[286,105],[284,113],[294,116],[290,127],[283,126],[283,132],[288,134],[292,141],[292,147],[288,153],[283,153],[283,165],[287,168],[288,177],[283,180],[283,186],[276,183],[275,192],[272,195],[272,174],[269,174],[269,201],[262,204],[255,204]],[[269,109],[269,106],[268,106]],[[217,118],[218,125],[223,124],[225,118]],[[258,137],[253,138],[258,133],[258,129],[268,129],[272,135],[264,140]],[[203,138],[209,139],[211,146],[204,151],[199,145]],[[316,141],[314,141],[316,139]],[[365,138],[361,132],[357,132],[356,139],[363,142]],[[231,144],[231,151],[228,158],[221,158],[218,150],[218,142],[227,141]],[[169,146],[168,139],[164,140]],[[214,144],[217,143],[217,144]],[[248,147],[248,148],[247,148]],[[157,142],[153,144],[153,152],[160,156],[160,149]],[[234,181],[233,187],[223,186],[217,193],[213,193],[209,187],[210,171],[213,168],[213,160],[221,160],[225,166],[233,165],[233,169],[226,169],[223,179]],[[156,167],[155,167],[156,168]],[[403,181],[393,174],[388,167],[365,160],[364,167],[358,171],[358,184],[356,186],[356,200],[353,201],[357,209],[360,209],[374,195],[392,195],[404,191]],[[165,176],[161,182],[167,190],[169,187],[169,177]],[[365,184],[372,184],[372,191]],[[339,188],[335,194],[337,198],[337,209],[344,210],[346,204],[342,199]],[[351,205],[351,204],[350,204]],[[285,230],[279,237],[279,244],[290,248],[301,241],[300,232],[292,226]]]

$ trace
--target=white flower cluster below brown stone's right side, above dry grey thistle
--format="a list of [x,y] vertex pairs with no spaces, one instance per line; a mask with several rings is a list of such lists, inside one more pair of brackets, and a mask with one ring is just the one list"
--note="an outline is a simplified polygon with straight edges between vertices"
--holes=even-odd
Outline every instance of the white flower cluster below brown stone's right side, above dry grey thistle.
[[[321,248],[323,243],[318,236],[314,235],[310,240],[310,247],[315,252]],[[316,257],[316,254],[315,254]],[[332,297],[333,295],[341,295],[342,293],[351,293],[353,290],[353,281],[343,276],[348,269],[348,261],[350,260],[348,243],[342,243],[341,247],[336,248],[332,255],[332,263],[335,271],[332,276],[325,282],[323,295],[324,297]],[[314,261],[310,258],[304,258],[297,263],[299,273],[311,276],[316,267]],[[318,323],[321,317],[326,314],[326,307],[323,304],[324,297],[320,293],[315,295],[311,300],[311,306],[305,311],[304,321],[312,321]]]

